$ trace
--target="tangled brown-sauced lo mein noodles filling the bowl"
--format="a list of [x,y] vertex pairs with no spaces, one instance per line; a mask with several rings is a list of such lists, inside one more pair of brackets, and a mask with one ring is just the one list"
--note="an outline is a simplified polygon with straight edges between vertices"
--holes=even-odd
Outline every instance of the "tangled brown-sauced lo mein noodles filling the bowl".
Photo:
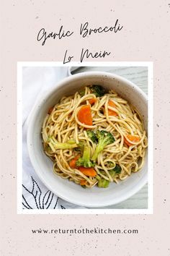
[[[76,92],[61,98],[45,117],[42,125],[45,154],[53,161],[54,173],[63,179],[69,179],[76,184],[81,184],[83,180],[86,187],[94,187],[99,179],[118,183],[143,167],[148,146],[143,120],[138,111],[113,90],[100,98],[91,93],[90,87],[84,88],[84,91],[85,95],[82,97]],[[93,105],[89,104],[90,99],[96,100]],[[109,101],[114,105],[110,106]],[[92,125],[83,124],[78,118],[81,106],[88,105],[91,106]],[[110,115],[109,111],[114,111],[115,115]],[[69,164],[75,155],[80,154],[76,150],[76,145],[80,142],[86,143],[91,155],[94,154],[97,144],[88,136],[88,130],[104,130],[115,138],[97,157],[94,166],[97,176],[85,175],[80,168],[71,168]],[[138,137],[138,140],[130,140],[130,136]],[[54,137],[57,142],[69,142],[75,148],[56,150],[53,143],[49,142],[50,137]],[[111,171],[117,166],[120,171],[111,175]]]

